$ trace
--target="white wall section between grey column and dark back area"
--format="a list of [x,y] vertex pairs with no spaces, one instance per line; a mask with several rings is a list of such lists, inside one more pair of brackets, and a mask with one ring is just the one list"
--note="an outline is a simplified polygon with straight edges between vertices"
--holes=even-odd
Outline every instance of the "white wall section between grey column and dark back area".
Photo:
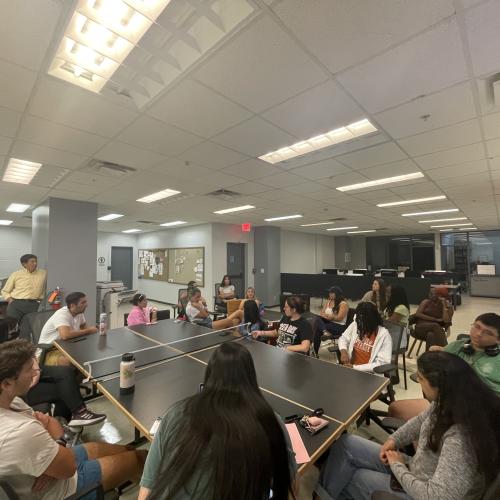
[[333,236],[281,230],[281,272],[317,274],[335,267]]

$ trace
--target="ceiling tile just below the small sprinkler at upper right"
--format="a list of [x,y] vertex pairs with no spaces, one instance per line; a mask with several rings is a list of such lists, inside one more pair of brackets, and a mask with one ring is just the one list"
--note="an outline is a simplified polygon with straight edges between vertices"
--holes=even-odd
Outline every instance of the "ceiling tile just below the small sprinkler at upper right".
[[430,132],[423,132],[398,142],[410,156],[419,156],[480,141],[481,131],[478,120],[469,120]]

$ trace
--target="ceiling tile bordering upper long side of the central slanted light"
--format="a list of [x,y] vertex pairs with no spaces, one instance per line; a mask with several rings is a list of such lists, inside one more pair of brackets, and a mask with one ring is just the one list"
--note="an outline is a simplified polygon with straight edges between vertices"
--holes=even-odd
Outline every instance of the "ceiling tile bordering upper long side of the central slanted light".
[[271,108],[262,116],[286,132],[308,139],[360,120],[365,114],[338,85],[328,81]]

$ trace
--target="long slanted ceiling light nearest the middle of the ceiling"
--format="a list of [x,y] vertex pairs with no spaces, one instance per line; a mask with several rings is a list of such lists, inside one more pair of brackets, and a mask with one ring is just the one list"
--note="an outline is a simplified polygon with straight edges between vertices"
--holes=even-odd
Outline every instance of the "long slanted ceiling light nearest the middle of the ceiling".
[[291,146],[271,151],[270,153],[259,156],[259,159],[271,164],[279,163],[280,161],[296,158],[297,156],[302,156],[306,153],[311,153],[312,151],[317,151],[318,149],[333,146],[334,144],[339,144],[344,141],[350,141],[351,139],[356,139],[357,137],[371,134],[376,131],[377,128],[372,125],[370,120],[365,118],[345,127],[310,137],[305,141],[296,142]]

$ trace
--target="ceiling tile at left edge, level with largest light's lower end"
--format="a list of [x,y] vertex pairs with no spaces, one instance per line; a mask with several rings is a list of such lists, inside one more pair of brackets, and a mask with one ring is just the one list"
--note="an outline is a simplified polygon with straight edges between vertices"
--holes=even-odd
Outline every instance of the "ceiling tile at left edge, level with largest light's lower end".
[[36,73],[0,60],[0,106],[24,111]]

